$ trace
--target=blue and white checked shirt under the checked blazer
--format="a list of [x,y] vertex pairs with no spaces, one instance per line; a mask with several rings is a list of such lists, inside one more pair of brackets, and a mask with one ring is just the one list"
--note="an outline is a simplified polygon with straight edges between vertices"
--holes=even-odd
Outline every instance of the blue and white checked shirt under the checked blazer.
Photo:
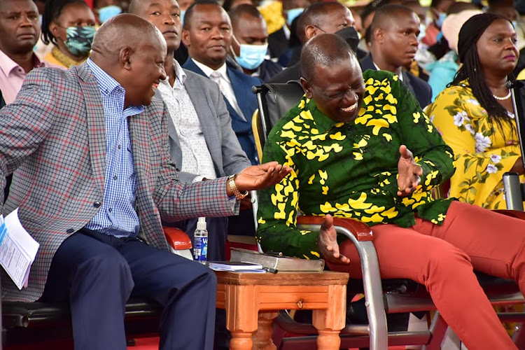
[[139,216],[135,211],[137,179],[127,118],[144,112],[144,106],[124,109],[125,90],[91,59],[87,59],[99,83],[106,118],[106,178],[104,202],[85,228],[116,237],[137,236]]

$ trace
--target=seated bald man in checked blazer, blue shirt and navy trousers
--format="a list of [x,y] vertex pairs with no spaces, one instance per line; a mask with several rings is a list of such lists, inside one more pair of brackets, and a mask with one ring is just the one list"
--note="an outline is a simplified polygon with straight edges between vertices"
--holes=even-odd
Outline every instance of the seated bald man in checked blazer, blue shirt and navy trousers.
[[2,272],[4,300],[69,302],[76,349],[126,349],[130,295],[164,307],[160,349],[211,349],[216,278],[167,251],[161,218],[236,214],[241,192],[290,172],[276,162],[232,179],[185,184],[169,156],[169,118],[153,98],[166,43],[135,15],[99,29],[91,58],[34,69],[0,111],[0,183],[15,171],[6,214],[40,244],[29,286]]

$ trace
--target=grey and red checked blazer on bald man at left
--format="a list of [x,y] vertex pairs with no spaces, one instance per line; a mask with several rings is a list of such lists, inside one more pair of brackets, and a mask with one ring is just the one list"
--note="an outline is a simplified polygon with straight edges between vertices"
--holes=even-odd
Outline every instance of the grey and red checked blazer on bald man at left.
[[[166,120],[166,106],[156,98],[129,119],[140,235],[160,249],[167,249],[161,218],[228,216],[238,210],[228,200],[224,178],[190,185],[179,181]],[[101,207],[105,167],[104,110],[89,66],[31,71],[15,102],[0,111],[0,183],[3,188],[5,176],[16,169],[3,212],[20,207],[22,225],[40,249],[28,288],[18,290],[2,272],[4,300],[41,296],[57,248]]]

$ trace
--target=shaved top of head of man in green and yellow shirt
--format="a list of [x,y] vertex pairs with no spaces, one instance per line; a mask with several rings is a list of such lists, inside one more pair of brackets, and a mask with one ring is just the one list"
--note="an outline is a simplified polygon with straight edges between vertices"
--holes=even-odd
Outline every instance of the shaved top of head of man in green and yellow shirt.
[[316,66],[332,66],[355,59],[352,49],[335,34],[319,34],[311,38],[301,50],[301,76],[312,80]]

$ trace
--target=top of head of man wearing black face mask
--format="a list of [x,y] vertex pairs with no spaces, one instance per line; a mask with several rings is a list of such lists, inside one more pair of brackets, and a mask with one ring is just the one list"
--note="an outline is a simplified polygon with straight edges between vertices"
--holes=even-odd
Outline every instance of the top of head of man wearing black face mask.
[[304,43],[316,34],[333,34],[339,29],[354,25],[356,22],[351,11],[342,3],[319,2],[308,6],[300,15],[297,20],[297,34]]

